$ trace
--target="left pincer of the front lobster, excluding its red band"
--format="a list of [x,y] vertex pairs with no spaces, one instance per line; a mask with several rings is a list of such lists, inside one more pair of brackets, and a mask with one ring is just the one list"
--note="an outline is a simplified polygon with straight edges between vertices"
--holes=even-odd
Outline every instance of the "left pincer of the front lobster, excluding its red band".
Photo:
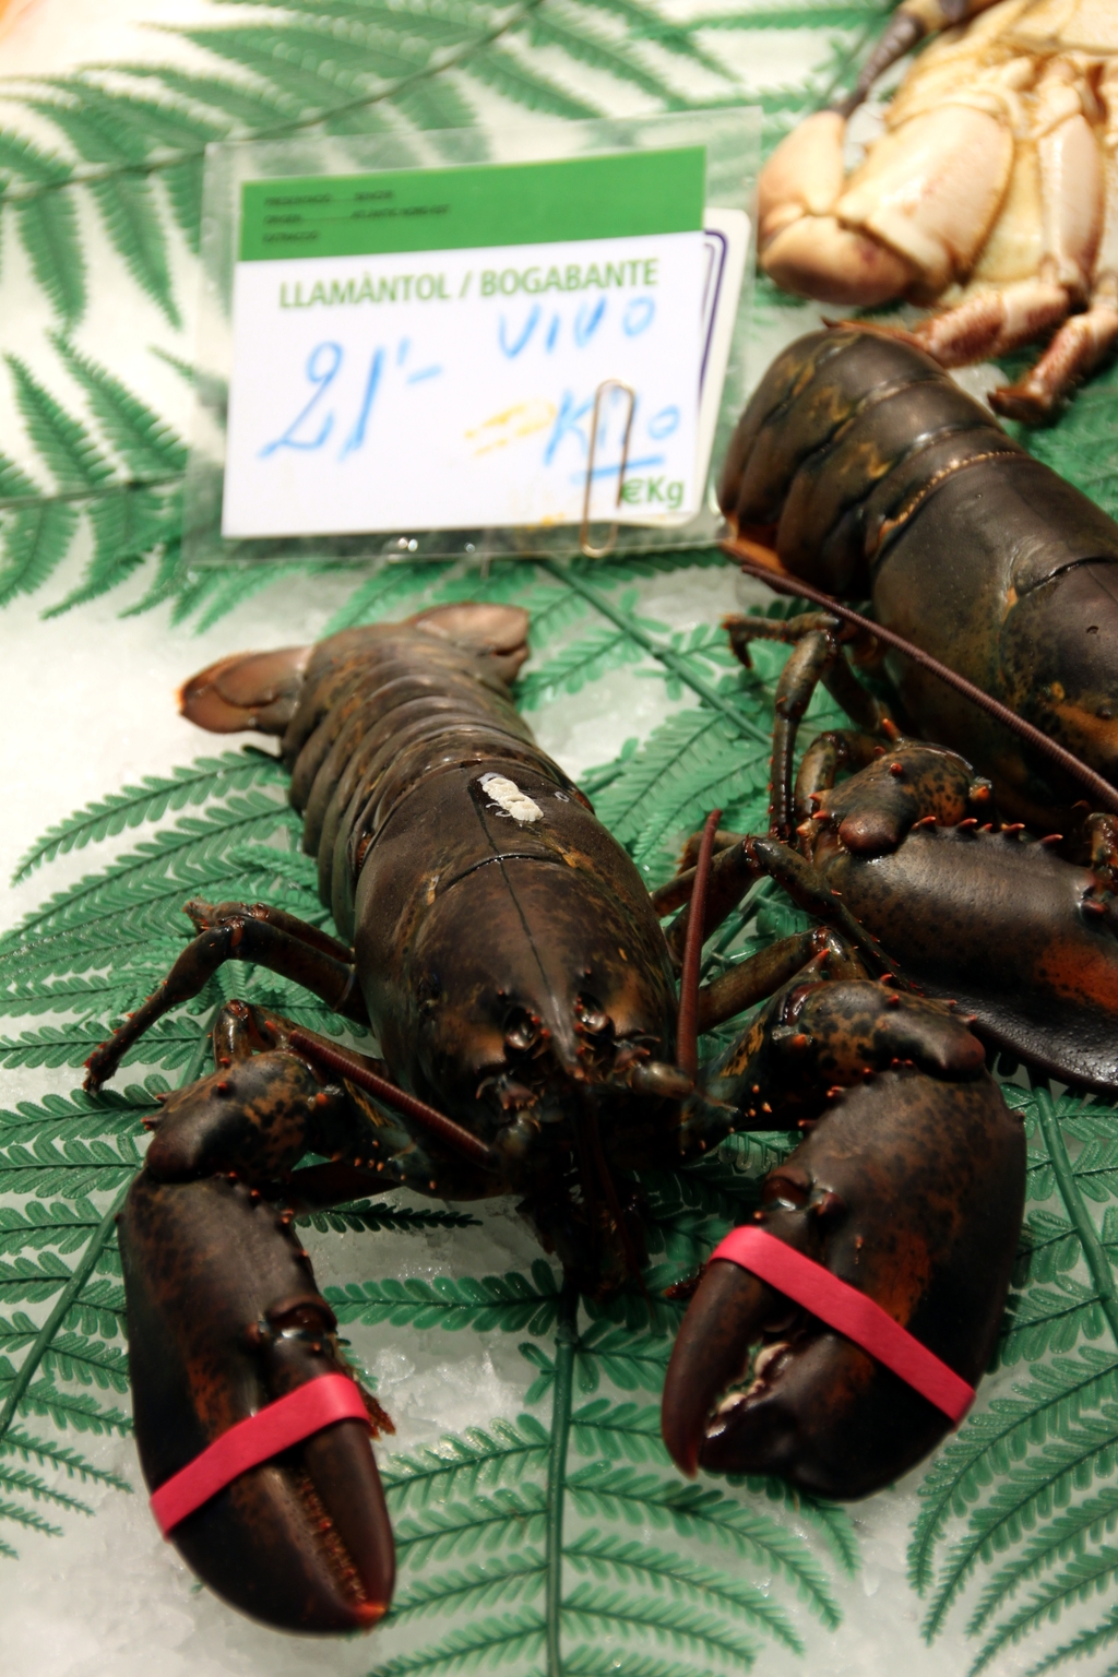
[[[240,1182],[141,1176],[121,1256],[136,1442],[153,1491],[277,1399],[350,1375],[288,1223]],[[365,1402],[370,1429],[391,1427]],[[241,1472],[169,1536],[218,1595],[278,1628],[369,1628],[392,1595],[392,1529],[360,1420]]]

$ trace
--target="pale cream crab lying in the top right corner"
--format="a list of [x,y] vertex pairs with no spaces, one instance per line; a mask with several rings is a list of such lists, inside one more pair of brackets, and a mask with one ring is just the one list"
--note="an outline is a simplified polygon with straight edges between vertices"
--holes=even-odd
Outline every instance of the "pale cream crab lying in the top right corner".
[[[848,176],[850,112],[937,30]],[[1048,418],[1118,342],[1118,5],[905,0],[851,97],[776,148],[758,213],[761,267],[786,290],[939,304],[912,337],[945,367],[1054,332],[991,396]]]

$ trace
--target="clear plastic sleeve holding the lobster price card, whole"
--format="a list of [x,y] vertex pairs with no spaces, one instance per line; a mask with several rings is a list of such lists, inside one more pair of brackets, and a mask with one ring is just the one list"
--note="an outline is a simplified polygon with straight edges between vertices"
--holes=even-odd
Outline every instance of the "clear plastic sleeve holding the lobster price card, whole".
[[734,107],[211,146],[186,562],[717,540],[758,134]]

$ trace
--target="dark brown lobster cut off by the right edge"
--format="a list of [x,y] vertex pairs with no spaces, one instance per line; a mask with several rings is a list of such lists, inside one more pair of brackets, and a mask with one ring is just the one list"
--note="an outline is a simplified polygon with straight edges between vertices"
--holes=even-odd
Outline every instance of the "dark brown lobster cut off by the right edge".
[[[738,426],[722,505],[754,557],[754,538],[774,543],[774,577],[870,594],[887,632],[1084,758],[1116,807],[1118,527],[927,356],[853,329],[793,344]],[[796,644],[776,698],[773,832],[798,837],[902,971],[959,999],[989,1041],[1118,1088],[1115,815],[1069,807],[1063,768],[897,652],[907,723],[964,755],[902,740],[846,662],[865,634],[836,617],[727,627],[746,664],[751,641]],[[860,731],[810,746],[793,792],[818,681]],[[853,773],[835,788],[840,771]],[[1017,822],[992,832],[992,790],[1039,842]]]

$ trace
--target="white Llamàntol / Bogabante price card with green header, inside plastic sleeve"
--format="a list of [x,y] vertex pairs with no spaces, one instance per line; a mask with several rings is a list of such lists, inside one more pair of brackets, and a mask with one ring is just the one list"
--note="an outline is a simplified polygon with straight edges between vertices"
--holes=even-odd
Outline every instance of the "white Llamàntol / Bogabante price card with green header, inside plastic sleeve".
[[748,245],[704,195],[701,146],[245,183],[221,533],[686,522]]

